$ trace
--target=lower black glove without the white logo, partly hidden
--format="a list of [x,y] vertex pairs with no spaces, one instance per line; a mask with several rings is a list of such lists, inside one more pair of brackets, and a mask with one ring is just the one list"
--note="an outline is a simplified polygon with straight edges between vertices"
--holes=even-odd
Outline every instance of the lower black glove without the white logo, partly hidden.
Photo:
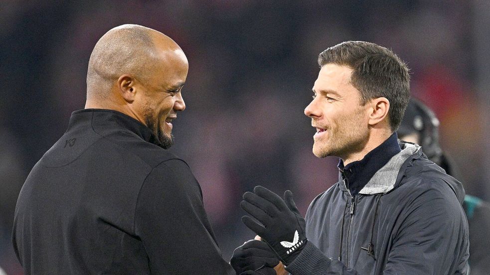
[[[279,265],[279,260],[276,253],[266,243],[250,240],[233,251],[230,264],[236,274],[241,275],[245,271],[257,271],[267,274],[265,269],[270,268],[274,271],[274,267]],[[272,274],[276,274],[275,271]]]

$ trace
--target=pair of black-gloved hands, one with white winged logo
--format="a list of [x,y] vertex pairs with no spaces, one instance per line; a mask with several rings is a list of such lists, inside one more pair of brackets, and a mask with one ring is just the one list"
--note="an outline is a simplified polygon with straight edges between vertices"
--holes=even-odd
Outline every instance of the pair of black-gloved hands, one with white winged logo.
[[[305,219],[293,201],[291,191],[284,199],[262,186],[254,192],[243,194],[240,206],[260,223],[243,216],[243,223],[254,231],[260,240],[250,240],[235,249],[230,264],[237,275],[275,275],[274,267],[281,261],[291,264],[303,250]],[[256,238],[257,239],[257,238]]]

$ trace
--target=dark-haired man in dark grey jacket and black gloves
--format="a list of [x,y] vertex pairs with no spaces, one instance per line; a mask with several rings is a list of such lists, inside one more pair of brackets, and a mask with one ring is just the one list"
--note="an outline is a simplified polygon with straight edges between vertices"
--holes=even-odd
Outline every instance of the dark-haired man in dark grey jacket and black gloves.
[[360,41],[328,48],[319,64],[305,114],[315,155],[340,157],[339,181],[314,199],[306,221],[290,191],[282,199],[257,186],[241,206],[259,222],[244,216],[245,225],[293,275],[466,274],[461,183],[420,146],[397,141],[410,98],[406,65]]

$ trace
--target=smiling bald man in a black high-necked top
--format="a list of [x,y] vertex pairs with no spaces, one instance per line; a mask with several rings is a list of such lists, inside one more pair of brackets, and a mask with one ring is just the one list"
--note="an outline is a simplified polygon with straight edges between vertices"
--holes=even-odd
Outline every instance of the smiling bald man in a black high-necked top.
[[26,275],[235,274],[187,163],[166,148],[185,109],[180,47],[143,26],[97,42],[87,102],[20,192],[12,241]]

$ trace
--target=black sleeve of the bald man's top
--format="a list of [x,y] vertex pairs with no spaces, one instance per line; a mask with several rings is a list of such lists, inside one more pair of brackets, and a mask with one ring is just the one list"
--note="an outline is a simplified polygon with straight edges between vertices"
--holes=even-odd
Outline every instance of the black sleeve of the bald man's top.
[[152,274],[235,275],[221,257],[199,183],[182,160],[167,160],[147,176],[138,197],[135,232]]

